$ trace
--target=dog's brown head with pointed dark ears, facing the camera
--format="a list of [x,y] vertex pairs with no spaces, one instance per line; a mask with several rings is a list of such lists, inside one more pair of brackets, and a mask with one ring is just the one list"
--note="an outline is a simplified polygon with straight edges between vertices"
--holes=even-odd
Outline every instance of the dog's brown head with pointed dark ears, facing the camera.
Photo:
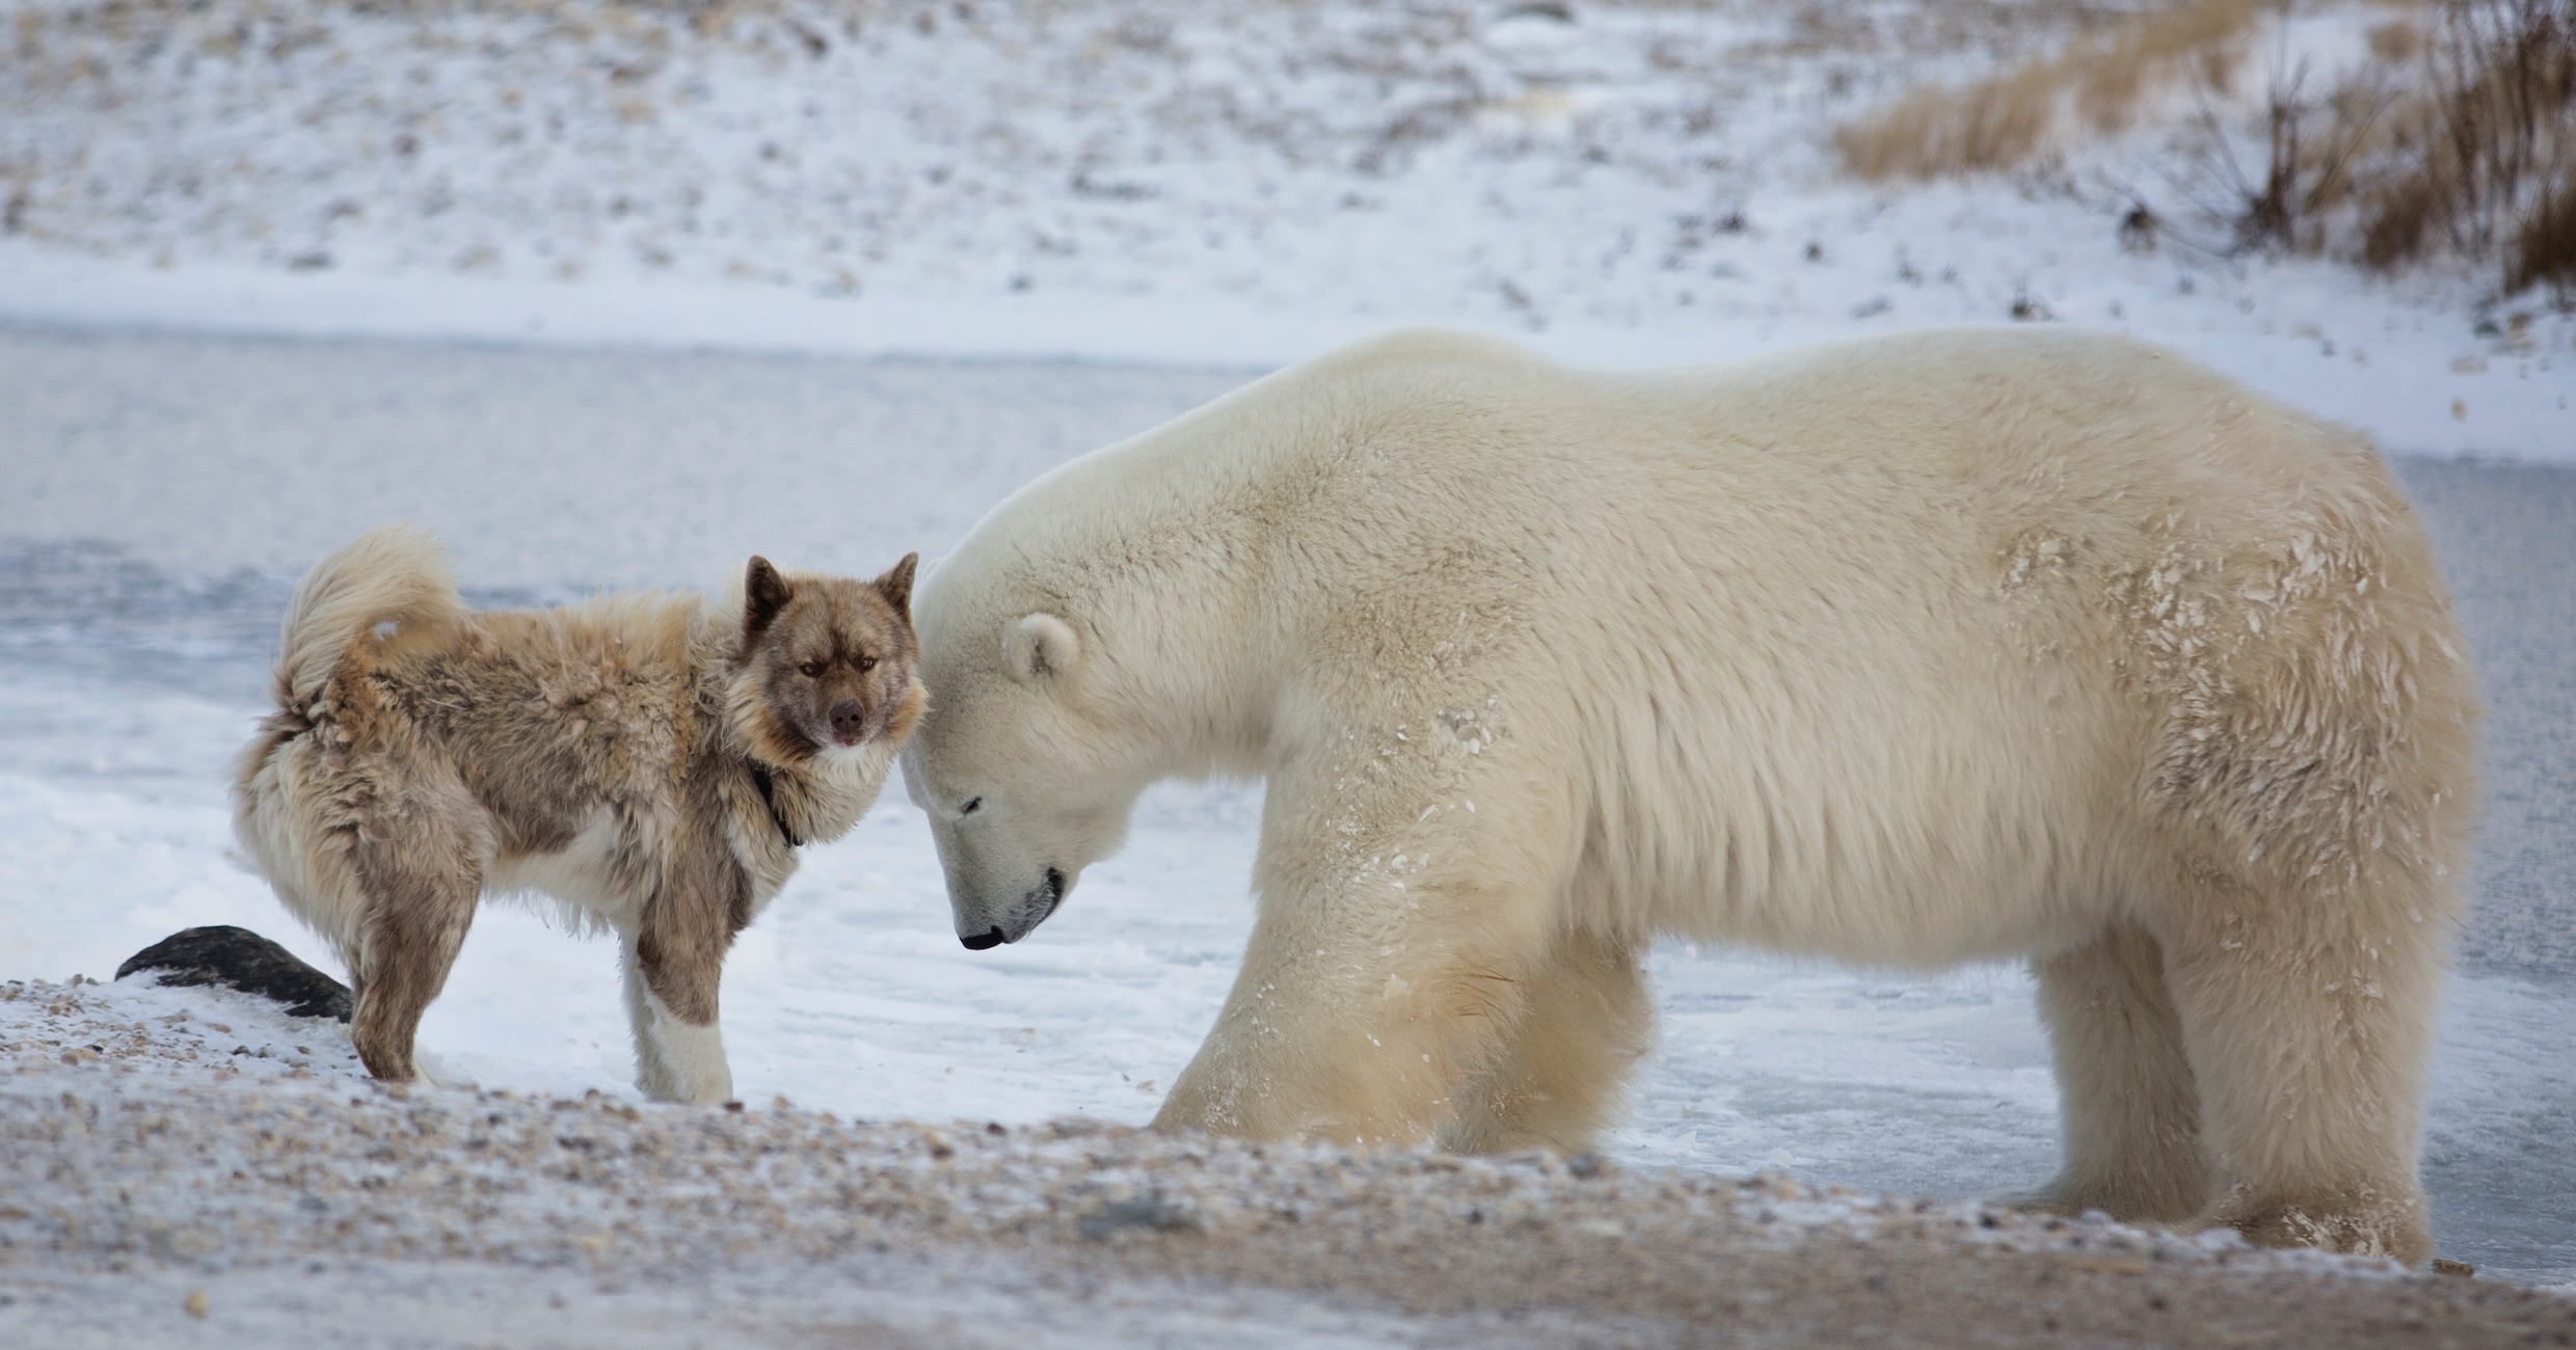
[[912,734],[922,716],[917,564],[907,554],[873,582],[786,575],[762,556],[742,572],[734,716],[762,760],[884,757]]

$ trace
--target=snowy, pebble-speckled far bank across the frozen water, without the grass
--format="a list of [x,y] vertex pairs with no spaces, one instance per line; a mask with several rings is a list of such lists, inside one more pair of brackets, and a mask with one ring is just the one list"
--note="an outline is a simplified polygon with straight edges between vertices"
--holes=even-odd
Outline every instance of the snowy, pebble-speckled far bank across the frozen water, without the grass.
[[2226,258],[2174,149],[2385,5],[2300,5],[2231,88],[2009,178],[1839,173],[1837,126],[2123,8],[0,0],[0,317],[1255,366],[1391,322],[1654,363],[2027,317],[2406,451],[2576,456],[2568,314]]

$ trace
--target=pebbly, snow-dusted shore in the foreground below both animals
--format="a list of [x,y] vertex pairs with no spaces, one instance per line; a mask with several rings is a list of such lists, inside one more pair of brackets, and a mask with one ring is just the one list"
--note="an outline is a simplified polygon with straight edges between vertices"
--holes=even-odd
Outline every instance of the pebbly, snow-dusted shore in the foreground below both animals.
[[[386,1335],[371,1288],[404,1270],[459,1286],[404,1327],[422,1340],[461,1337],[497,1283],[526,1309],[510,1324],[567,1293],[688,1288],[680,1327],[752,1319],[755,1342],[801,1340],[835,1301],[930,1345],[1015,1322],[1066,1342],[1054,1319],[1082,1306],[1224,1309],[1255,1342],[2576,1335],[2576,1301],[2385,1260],[1788,1177],[381,1087],[337,1023],[206,989],[0,984],[0,1332],[49,1342],[232,1340],[289,1298],[304,1335],[366,1345]],[[77,1296],[100,1283],[160,1296],[103,1314]]]

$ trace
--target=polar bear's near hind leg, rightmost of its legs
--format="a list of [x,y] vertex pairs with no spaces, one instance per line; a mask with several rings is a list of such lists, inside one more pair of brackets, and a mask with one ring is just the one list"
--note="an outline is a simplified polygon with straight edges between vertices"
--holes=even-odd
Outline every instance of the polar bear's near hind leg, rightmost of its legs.
[[2264,1247],[2432,1257],[2416,1144],[2442,904],[2424,897],[2409,920],[2385,899],[2205,876],[2164,935],[2208,1141],[2231,1180],[2208,1224]]

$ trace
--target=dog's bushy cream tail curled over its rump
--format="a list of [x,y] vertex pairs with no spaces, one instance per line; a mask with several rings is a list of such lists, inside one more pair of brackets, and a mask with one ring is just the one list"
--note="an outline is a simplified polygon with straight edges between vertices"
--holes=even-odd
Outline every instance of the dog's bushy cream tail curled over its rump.
[[379,623],[459,618],[448,551],[430,531],[384,526],[348,541],[296,582],[278,629],[278,706],[304,711],[330,685],[348,647]]

